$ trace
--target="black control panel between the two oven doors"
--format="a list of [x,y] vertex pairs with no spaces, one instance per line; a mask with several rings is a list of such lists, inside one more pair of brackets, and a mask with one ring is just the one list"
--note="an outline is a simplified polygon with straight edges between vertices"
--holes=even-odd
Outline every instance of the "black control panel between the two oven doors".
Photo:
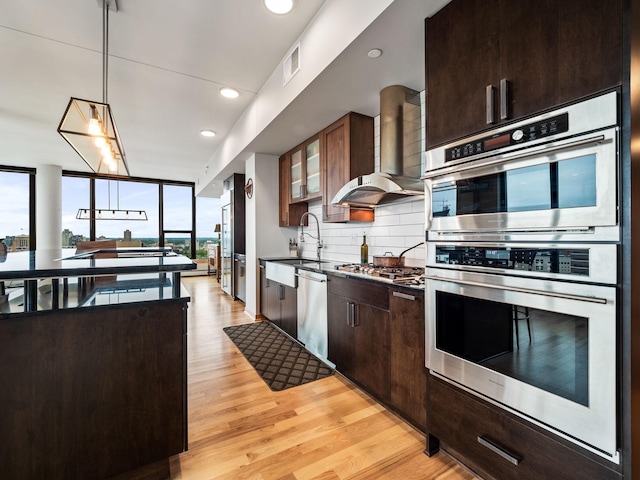
[[589,249],[439,245],[435,263],[584,277],[589,276]]

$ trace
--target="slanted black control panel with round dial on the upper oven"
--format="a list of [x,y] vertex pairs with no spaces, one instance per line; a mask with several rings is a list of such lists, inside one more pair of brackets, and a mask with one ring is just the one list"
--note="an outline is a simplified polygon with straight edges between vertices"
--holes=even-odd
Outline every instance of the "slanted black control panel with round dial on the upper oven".
[[544,137],[550,137],[569,130],[569,114],[563,113],[554,117],[520,125],[472,142],[460,143],[445,149],[445,162],[471,157],[511,145],[526,144]]

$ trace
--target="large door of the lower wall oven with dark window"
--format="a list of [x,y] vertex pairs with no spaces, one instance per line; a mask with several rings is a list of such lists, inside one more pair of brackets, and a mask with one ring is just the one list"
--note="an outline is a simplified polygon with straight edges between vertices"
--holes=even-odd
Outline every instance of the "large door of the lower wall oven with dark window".
[[426,365],[616,461],[616,288],[426,269]]

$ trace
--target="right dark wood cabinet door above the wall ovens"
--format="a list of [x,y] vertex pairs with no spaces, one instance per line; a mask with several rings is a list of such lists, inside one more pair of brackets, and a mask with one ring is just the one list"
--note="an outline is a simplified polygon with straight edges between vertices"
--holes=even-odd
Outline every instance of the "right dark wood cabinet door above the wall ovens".
[[500,3],[500,79],[512,87],[505,120],[620,85],[620,1],[540,0],[533,8]]

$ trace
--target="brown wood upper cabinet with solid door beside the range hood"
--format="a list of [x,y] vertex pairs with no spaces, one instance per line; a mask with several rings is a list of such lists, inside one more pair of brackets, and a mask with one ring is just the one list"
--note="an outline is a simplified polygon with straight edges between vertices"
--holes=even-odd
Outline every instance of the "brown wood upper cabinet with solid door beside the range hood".
[[331,200],[349,180],[374,170],[373,118],[348,113],[322,132],[324,142],[323,222],[372,222],[373,210],[331,205]]

